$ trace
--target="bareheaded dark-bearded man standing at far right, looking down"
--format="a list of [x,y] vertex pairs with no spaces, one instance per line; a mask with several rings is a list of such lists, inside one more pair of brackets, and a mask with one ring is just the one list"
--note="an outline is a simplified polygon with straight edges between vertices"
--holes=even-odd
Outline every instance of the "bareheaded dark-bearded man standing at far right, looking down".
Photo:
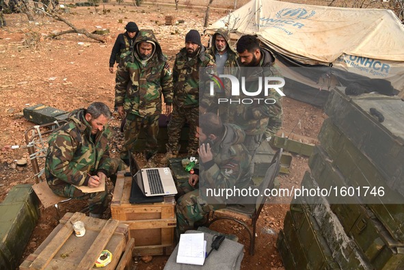
[[[273,66],[275,57],[270,51],[260,48],[258,39],[255,36],[245,35],[237,41],[237,53],[239,53],[240,74],[241,78],[245,78],[245,90],[247,92],[257,92],[259,80],[265,77],[281,77],[278,70]],[[262,81],[262,88],[264,87]],[[240,92],[240,98],[252,98]],[[250,151],[252,158],[256,149],[260,145],[262,136],[267,138],[274,135],[282,126],[282,103],[281,96],[274,89],[269,91],[269,95],[265,96],[262,90],[258,96],[254,98],[272,99],[273,104],[254,101],[251,104],[230,105],[230,122],[241,126],[245,132],[244,145]],[[252,164],[254,170],[254,163]]]

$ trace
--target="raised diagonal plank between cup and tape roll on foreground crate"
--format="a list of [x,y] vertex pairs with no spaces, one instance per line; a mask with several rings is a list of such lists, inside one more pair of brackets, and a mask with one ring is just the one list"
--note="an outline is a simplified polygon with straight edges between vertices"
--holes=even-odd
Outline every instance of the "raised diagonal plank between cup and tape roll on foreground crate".
[[94,265],[96,259],[103,251],[105,245],[107,245],[109,239],[111,239],[113,232],[118,227],[119,221],[114,219],[109,219],[103,229],[100,231],[94,242],[92,243],[90,249],[87,251],[83,260],[79,263],[77,269],[87,270]]

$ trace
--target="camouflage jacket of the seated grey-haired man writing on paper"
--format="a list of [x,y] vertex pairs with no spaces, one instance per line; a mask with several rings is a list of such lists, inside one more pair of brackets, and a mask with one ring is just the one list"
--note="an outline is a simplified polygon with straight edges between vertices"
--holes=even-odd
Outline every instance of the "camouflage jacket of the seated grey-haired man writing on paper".
[[111,129],[91,135],[92,127],[84,118],[85,109],[72,111],[68,122],[49,137],[45,176],[52,185],[87,185],[89,174],[109,170],[108,141]]

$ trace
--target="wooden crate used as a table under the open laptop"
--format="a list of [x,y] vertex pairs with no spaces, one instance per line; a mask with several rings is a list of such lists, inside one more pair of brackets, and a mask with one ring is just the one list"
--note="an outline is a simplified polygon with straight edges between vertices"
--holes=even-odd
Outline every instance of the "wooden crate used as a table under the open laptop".
[[111,201],[111,215],[129,225],[130,237],[135,239],[133,256],[169,255],[174,249],[176,227],[174,196],[163,202],[131,204],[132,177],[118,173]]

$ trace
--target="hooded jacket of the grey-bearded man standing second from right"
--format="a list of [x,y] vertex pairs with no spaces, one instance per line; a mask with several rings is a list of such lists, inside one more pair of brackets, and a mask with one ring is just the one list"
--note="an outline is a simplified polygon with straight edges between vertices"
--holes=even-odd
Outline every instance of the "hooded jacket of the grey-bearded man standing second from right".
[[216,61],[216,46],[215,46],[215,40],[217,35],[222,36],[226,42],[227,42],[227,53],[228,57],[227,60],[224,64],[224,72],[223,74],[228,74],[228,75],[237,75],[238,68],[239,68],[239,63],[237,62],[237,53],[232,49],[230,46],[230,36],[228,35],[228,32],[225,31],[224,29],[219,29],[216,31],[216,33],[213,34],[212,36],[212,46],[211,48],[208,49],[209,55],[213,57]]

